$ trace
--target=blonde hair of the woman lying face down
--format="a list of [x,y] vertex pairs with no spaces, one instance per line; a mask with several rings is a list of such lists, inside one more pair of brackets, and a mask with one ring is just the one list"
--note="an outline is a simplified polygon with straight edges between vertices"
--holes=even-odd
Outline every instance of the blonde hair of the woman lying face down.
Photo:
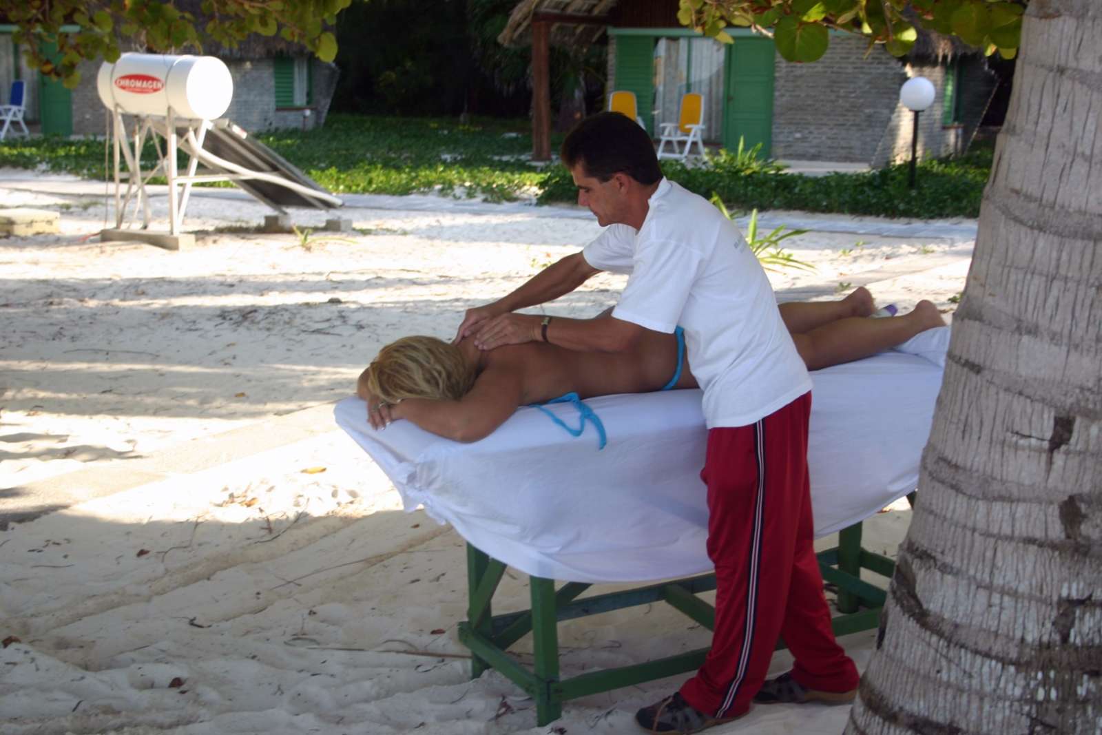
[[475,366],[443,339],[402,337],[379,350],[359,382],[361,397],[366,388],[388,403],[403,398],[460,400],[475,382]]

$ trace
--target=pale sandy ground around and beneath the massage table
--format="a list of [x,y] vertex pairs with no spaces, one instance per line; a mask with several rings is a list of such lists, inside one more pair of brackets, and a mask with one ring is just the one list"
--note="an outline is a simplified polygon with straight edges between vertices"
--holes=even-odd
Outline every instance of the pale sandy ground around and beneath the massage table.
[[[63,209],[61,236],[0,239],[0,518],[69,506],[0,531],[0,638],[19,639],[0,651],[0,732],[635,732],[635,709],[680,678],[568,703],[544,727],[499,674],[468,680],[462,539],[401,512],[327,406],[382,344],[451,336],[464,309],[574,251],[595,221],[350,197],[341,216],[365,231],[215,233],[170,252],[87,239],[102,226],[97,191],[0,171],[0,205]],[[266,213],[204,193],[187,229]],[[921,298],[951,310],[972,246],[823,231],[786,245],[817,270],[775,274],[781,298],[866,284],[904,310]],[[622,284],[602,275],[549,312],[595,313]],[[908,516],[874,518],[869,545],[893,552]],[[496,609],[526,607],[523,575],[503,594]],[[707,642],[658,606],[574,620],[560,638],[564,675]],[[871,639],[843,641],[858,666]],[[528,639],[514,650],[523,658]],[[836,733],[845,717],[757,707],[712,732]]]

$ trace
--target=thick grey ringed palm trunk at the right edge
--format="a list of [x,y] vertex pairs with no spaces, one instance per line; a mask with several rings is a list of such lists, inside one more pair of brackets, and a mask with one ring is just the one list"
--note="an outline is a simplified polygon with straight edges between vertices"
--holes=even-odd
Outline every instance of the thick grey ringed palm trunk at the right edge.
[[1033,0],[846,733],[1102,732],[1102,3]]

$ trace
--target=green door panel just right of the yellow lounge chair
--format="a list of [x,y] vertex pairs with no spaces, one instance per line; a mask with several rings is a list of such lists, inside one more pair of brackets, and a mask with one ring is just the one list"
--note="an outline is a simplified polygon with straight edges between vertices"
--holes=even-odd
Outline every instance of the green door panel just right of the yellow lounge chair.
[[737,150],[741,137],[745,148],[761,143],[761,155],[771,154],[775,55],[771,39],[739,36],[727,47],[723,147],[728,151]]

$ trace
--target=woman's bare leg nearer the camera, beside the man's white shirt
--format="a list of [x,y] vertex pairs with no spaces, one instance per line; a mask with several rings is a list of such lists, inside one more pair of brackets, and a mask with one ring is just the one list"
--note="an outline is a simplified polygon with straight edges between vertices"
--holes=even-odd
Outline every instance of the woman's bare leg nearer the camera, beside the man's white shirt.
[[944,325],[938,307],[932,302],[920,301],[904,316],[841,318],[803,334],[793,334],[792,342],[808,369],[818,370],[860,360],[900,345],[919,332]]

